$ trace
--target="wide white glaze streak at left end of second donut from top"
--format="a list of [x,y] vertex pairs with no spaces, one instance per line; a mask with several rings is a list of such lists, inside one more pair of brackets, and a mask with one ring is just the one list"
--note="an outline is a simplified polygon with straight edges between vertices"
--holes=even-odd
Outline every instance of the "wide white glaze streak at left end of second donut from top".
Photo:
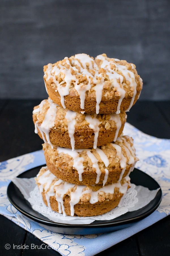
[[[48,99],[48,102],[49,102],[49,108],[46,112],[46,115],[45,115],[44,120],[42,121],[41,125],[38,124],[38,121],[35,122],[35,133],[38,133],[37,129],[39,129],[44,142],[45,143],[47,142],[53,148],[53,145],[50,142],[49,132],[50,132],[50,129],[52,127],[54,127],[54,121],[55,121],[55,117],[56,117],[56,104],[53,103],[51,99]],[[41,113],[42,107],[44,104],[45,104],[45,100],[43,100],[41,102],[41,104],[39,104],[39,108],[33,110],[33,114],[36,114],[37,112]],[[44,137],[44,134],[46,136],[46,139]]]

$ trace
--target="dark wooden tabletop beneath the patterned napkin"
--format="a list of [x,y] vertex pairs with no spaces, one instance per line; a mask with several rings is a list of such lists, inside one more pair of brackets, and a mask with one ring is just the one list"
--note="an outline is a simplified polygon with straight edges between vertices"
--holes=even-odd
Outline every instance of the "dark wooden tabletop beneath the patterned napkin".
[[[0,100],[0,162],[42,149],[42,140],[34,133],[33,107],[41,100]],[[138,101],[127,121],[149,135],[170,139],[170,101]],[[0,216],[1,255],[60,255],[53,249],[31,249],[42,242]],[[30,249],[5,249],[5,244],[25,244]],[[170,255],[170,216],[99,253],[98,255]],[[76,256],[76,255],[75,255]]]

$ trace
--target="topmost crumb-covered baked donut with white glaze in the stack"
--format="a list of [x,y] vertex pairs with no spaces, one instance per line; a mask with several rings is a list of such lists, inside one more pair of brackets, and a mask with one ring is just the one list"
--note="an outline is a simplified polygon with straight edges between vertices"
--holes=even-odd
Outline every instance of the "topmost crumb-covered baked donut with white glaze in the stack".
[[49,97],[63,108],[85,113],[129,111],[142,90],[135,65],[126,60],[76,54],[44,66]]

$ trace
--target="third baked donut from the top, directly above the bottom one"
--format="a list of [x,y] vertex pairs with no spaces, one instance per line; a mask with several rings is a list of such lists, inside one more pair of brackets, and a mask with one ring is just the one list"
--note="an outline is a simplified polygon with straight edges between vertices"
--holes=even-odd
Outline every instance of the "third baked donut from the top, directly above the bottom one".
[[75,149],[43,145],[46,165],[59,179],[78,185],[108,184],[129,176],[138,158],[133,139],[119,137],[96,149]]

